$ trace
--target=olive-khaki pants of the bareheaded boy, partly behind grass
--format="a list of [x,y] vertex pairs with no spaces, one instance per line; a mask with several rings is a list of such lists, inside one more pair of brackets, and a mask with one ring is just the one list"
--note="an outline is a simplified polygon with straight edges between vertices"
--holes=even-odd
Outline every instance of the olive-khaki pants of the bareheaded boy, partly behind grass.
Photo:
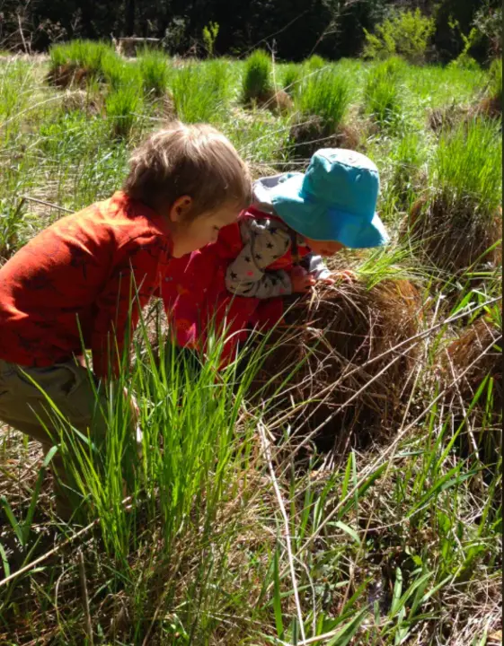
[[[57,414],[48,397],[68,423],[85,436],[91,432],[93,441],[100,444],[107,432],[102,415],[102,410],[107,410],[107,402],[100,389],[96,397],[87,370],[74,361],[47,368],[26,368],[0,359],[0,420],[40,441],[46,454],[59,443],[65,425],[57,423]],[[134,432],[133,419],[131,425]],[[57,512],[68,519],[71,515],[68,479],[59,451],[51,460],[51,469],[55,476]]]

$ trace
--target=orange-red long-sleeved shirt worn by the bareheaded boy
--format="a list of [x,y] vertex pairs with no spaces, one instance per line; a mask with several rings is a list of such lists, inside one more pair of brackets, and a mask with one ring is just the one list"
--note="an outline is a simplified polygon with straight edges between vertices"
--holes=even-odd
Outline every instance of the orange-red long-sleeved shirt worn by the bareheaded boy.
[[0,358],[49,366],[83,354],[84,341],[104,377],[111,340],[117,370],[115,341],[121,355],[171,249],[162,218],[121,192],[58,220],[0,268]]

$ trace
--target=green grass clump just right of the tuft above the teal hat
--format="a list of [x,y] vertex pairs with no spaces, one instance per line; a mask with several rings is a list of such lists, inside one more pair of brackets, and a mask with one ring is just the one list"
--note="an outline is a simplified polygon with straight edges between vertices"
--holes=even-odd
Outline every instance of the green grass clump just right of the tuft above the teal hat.
[[402,62],[395,58],[373,67],[364,88],[364,106],[381,127],[394,127],[401,116]]

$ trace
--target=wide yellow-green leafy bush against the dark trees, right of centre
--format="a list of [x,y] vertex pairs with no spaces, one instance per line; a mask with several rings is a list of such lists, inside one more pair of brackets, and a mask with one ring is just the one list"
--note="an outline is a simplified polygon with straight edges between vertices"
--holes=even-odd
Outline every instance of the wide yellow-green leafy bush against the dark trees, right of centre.
[[411,63],[425,61],[429,40],[436,29],[436,21],[420,12],[401,11],[376,27],[371,34],[366,29],[364,57],[386,58],[399,54]]

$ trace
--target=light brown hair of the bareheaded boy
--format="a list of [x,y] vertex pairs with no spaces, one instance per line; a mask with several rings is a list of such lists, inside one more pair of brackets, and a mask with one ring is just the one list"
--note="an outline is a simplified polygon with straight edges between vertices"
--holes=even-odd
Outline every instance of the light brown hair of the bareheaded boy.
[[150,135],[131,155],[124,183],[128,196],[149,206],[170,207],[190,196],[190,219],[224,203],[239,210],[252,201],[249,170],[233,144],[214,127],[172,127]]

